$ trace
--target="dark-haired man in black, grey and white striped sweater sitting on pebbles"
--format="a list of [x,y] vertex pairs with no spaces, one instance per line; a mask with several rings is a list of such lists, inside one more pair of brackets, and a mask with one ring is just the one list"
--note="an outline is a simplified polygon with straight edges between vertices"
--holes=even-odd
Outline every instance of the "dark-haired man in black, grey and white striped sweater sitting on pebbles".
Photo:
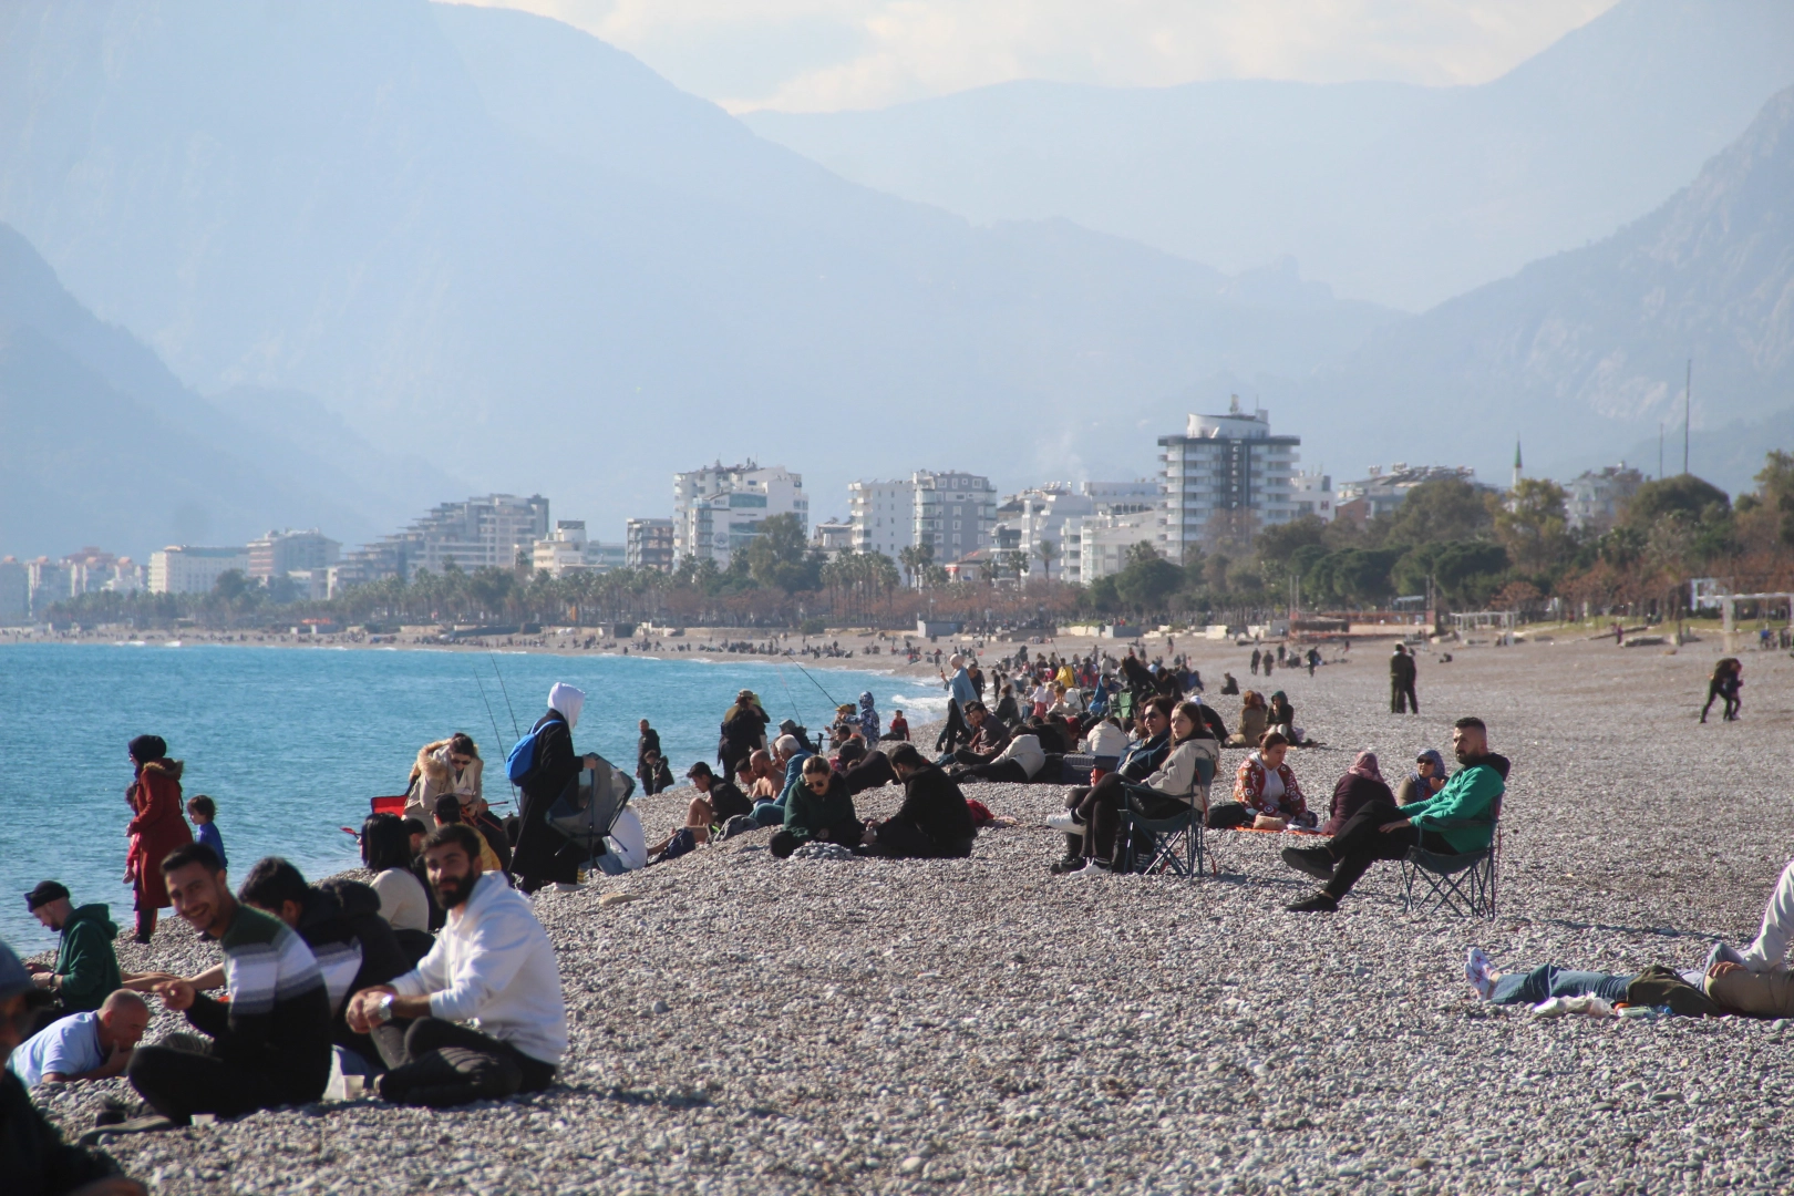
[[170,852],[161,875],[174,913],[224,950],[230,1001],[183,979],[156,984],[163,1004],[212,1044],[205,1054],[138,1047],[126,1070],[131,1085],[176,1124],[319,1099],[330,1081],[330,997],[312,949],[280,918],[239,904],[203,843]]

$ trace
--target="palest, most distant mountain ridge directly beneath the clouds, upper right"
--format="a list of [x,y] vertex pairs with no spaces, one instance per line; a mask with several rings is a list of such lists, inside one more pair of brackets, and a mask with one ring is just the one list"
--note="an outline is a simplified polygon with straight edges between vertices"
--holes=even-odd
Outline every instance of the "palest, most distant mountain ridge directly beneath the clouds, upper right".
[[1066,217],[1222,269],[1293,255],[1421,310],[1638,219],[1789,84],[1785,0],[1622,0],[1482,86],[1028,81],[745,120],[972,221]]

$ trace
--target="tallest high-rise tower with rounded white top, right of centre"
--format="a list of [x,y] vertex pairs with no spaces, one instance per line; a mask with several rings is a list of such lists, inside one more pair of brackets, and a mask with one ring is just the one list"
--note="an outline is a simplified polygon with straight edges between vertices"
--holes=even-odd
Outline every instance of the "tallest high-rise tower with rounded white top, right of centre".
[[1286,524],[1295,506],[1297,436],[1272,436],[1270,412],[1189,416],[1182,436],[1161,436],[1164,524],[1159,545],[1171,561],[1204,542],[1220,515],[1250,513],[1256,525]]

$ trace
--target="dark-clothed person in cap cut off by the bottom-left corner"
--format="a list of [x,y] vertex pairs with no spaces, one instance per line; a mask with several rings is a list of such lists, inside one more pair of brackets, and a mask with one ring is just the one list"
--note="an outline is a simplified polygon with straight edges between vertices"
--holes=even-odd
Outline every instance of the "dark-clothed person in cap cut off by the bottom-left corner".
[[[0,1054],[20,1045],[48,999],[13,949],[0,943]],[[144,1196],[144,1185],[118,1174],[111,1158],[63,1142],[7,1069],[0,1069],[0,1183],[20,1196]]]

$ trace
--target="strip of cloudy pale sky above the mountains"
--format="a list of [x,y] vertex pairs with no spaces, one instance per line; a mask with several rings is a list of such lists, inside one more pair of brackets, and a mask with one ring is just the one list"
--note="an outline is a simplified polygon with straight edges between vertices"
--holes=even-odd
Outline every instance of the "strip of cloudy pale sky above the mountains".
[[730,111],[1012,79],[1487,82],[1615,0],[472,0],[553,16]]

